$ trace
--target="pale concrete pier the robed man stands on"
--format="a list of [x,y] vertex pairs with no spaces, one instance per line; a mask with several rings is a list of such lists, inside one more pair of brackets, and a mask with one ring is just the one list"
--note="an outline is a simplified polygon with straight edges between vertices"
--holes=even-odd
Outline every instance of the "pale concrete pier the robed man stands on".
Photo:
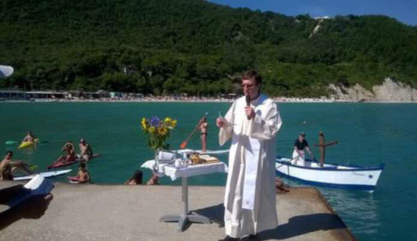
[[[17,182],[2,181],[0,188]],[[54,200],[40,219],[21,219],[0,231],[0,240],[218,240],[224,238],[224,187],[190,186],[191,212],[212,224],[161,223],[181,213],[181,186],[77,185],[56,183]],[[0,211],[5,206],[0,206]],[[277,194],[279,226],[259,240],[354,240],[315,188]]]

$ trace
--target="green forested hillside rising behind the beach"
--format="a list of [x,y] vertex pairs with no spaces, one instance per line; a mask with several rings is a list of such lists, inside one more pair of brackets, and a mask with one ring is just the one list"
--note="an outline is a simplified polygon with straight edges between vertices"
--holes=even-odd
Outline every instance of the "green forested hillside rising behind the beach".
[[349,15],[311,35],[318,22],[200,0],[3,0],[0,63],[15,75],[0,88],[218,95],[249,67],[272,95],[417,86],[416,26]]

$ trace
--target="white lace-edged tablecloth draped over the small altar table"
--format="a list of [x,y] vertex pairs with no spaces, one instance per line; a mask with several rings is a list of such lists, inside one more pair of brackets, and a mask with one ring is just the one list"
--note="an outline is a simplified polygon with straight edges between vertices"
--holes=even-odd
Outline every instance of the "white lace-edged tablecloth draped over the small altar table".
[[[155,164],[155,160],[147,160],[140,167],[152,169]],[[185,167],[175,167],[173,164],[159,164],[159,172],[163,172],[166,176],[169,176],[172,181],[179,177],[198,176],[202,174],[211,174],[215,172],[229,172],[229,167],[225,163],[210,163],[200,165],[190,165]]]

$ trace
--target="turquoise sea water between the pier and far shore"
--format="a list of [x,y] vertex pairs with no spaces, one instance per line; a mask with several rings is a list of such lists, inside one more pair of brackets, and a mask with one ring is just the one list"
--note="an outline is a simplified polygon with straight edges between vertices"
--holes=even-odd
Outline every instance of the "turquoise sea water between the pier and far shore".
[[[169,140],[178,149],[208,113],[208,149],[220,149],[215,118],[231,103],[0,103],[0,144],[13,150],[15,158],[38,165],[38,171],[60,156],[66,140],[78,144],[85,138],[99,158],[88,169],[95,183],[124,183],[135,169],[150,158],[142,117],[174,117],[177,128]],[[327,149],[327,162],[379,165],[384,172],[375,192],[319,188],[359,240],[416,240],[417,215],[417,104],[399,103],[279,103],[284,122],[277,135],[277,153],[291,156],[293,142],[304,131],[309,144],[317,143],[318,131],[339,144]],[[21,140],[31,130],[47,141],[35,149],[17,149],[4,144]],[[229,145],[228,145],[229,146]],[[227,146],[227,147],[228,147]],[[198,133],[188,147],[201,149]],[[312,147],[313,148],[313,147]],[[318,150],[313,148],[315,156]],[[227,160],[227,156],[220,156]],[[76,166],[71,166],[76,174]],[[145,170],[145,180],[150,172]],[[192,185],[224,185],[225,174],[190,178]],[[53,181],[66,181],[65,176]],[[287,181],[290,185],[300,185]],[[172,185],[168,178],[162,184]],[[179,181],[174,182],[178,185]],[[279,201],[279,199],[278,199]]]

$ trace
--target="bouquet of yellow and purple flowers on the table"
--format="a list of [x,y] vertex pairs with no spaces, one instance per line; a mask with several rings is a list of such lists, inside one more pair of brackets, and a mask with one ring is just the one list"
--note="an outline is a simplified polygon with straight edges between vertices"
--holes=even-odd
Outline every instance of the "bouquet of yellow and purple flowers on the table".
[[170,137],[171,130],[177,126],[177,120],[170,117],[159,119],[158,117],[142,118],[142,130],[149,134],[148,144],[151,149],[168,149],[169,144],[165,140]]

